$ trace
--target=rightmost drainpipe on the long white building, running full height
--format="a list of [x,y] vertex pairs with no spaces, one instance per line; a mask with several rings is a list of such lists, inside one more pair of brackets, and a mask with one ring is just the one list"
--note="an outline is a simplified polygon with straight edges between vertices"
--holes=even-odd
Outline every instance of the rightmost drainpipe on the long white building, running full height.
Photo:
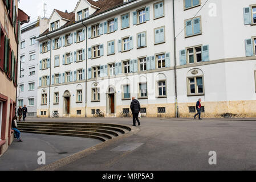
[[177,96],[177,56],[176,56],[176,36],[175,36],[175,14],[174,14],[174,0],[172,1],[173,11],[173,38],[174,38],[174,92],[175,92],[175,115],[178,118],[178,96]]

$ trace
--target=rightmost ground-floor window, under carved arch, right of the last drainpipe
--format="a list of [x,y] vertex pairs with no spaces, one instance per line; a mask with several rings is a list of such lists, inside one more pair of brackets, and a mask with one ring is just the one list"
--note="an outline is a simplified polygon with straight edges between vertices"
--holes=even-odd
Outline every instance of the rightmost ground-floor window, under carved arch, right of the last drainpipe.
[[202,77],[188,78],[189,83],[189,95],[204,94],[204,85]]

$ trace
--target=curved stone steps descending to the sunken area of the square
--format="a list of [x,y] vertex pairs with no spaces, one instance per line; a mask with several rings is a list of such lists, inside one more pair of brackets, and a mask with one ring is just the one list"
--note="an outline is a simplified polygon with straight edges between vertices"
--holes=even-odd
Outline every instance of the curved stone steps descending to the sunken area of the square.
[[110,123],[17,122],[17,124],[19,131],[25,133],[94,138],[103,142],[131,131],[128,126]]

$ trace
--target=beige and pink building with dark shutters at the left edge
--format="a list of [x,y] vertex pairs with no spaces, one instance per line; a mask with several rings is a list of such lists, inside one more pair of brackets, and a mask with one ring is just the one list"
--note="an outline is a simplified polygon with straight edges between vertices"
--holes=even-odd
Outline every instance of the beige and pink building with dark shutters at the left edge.
[[0,1],[0,156],[13,142],[11,119],[15,115],[17,57],[20,24],[29,21],[18,1]]

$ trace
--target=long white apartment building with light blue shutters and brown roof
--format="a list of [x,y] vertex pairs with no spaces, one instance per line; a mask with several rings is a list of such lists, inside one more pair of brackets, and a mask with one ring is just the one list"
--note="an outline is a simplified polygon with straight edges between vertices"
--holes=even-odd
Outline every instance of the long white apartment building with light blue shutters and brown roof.
[[198,98],[203,117],[253,117],[255,19],[253,0],[80,0],[72,13],[54,10],[36,39],[37,115],[118,117],[136,97],[147,117],[192,117]]

